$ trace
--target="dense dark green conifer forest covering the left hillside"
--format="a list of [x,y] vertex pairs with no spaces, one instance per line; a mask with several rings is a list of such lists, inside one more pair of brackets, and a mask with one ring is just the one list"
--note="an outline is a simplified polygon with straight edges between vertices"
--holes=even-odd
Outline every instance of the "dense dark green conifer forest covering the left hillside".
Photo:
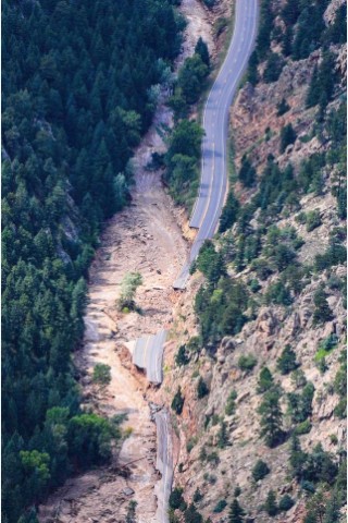
[[2,519],[108,461],[116,421],[79,408],[72,351],[102,222],[171,76],[170,0],[2,3]]

